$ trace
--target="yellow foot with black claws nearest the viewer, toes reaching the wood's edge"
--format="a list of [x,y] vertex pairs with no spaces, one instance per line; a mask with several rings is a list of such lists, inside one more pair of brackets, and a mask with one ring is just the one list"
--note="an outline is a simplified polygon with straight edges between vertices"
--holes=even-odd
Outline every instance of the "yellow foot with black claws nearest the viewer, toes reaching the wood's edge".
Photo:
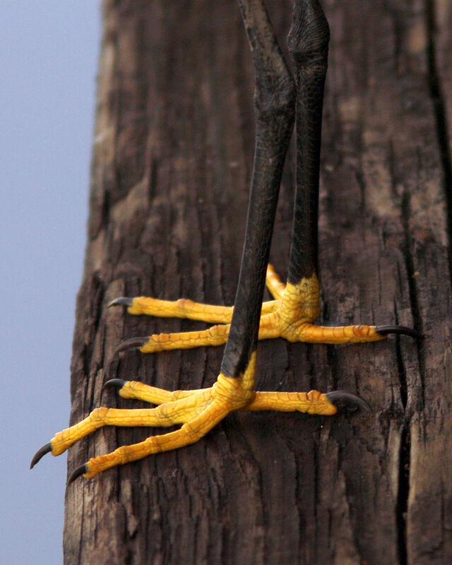
[[68,482],[80,475],[90,479],[100,472],[153,453],[169,451],[194,444],[234,410],[279,410],[283,412],[305,412],[311,415],[334,415],[338,408],[367,410],[369,406],[362,398],[344,391],[320,393],[255,392],[254,355],[243,376],[239,379],[220,374],[210,388],[194,391],[165,391],[138,381],[112,379],[104,388],[119,388],[122,398],[134,398],[157,405],[157,408],[121,410],[96,408],[93,412],[68,429],[59,432],[52,441],[40,448],[32,458],[32,468],[46,453],[58,456],[67,448],[103,426],[153,426],[169,427],[182,424],[174,432],[150,436],[138,444],[121,446],[112,453],[91,458],[73,470]]

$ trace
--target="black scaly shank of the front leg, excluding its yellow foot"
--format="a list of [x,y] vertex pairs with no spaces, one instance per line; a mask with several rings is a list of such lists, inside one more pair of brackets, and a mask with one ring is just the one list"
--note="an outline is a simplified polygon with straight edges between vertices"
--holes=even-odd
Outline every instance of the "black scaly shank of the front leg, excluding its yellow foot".
[[[242,264],[221,371],[238,376],[256,351],[263,289],[287,146],[295,117],[295,84],[263,2],[239,0],[251,45],[256,90],[256,145]],[[265,26],[259,21],[265,15]]]

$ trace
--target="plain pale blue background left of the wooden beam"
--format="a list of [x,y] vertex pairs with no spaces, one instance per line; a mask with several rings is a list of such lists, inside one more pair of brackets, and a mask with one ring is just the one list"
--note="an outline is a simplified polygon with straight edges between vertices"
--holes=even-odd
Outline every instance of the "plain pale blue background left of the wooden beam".
[[0,0],[0,563],[60,564],[69,365],[88,218],[97,0]]

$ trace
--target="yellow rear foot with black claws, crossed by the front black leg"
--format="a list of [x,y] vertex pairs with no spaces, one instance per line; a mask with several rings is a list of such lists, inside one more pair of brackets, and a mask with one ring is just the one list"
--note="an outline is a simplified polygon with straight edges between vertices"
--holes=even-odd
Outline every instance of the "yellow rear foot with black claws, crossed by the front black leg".
[[[316,275],[297,284],[284,285],[273,266],[268,265],[266,285],[275,300],[263,302],[258,339],[285,338],[305,343],[366,343],[379,341],[390,333],[419,334],[405,326],[317,326],[320,314],[319,281]],[[173,349],[190,349],[207,345],[223,345],[230,332],[234,307],[201,304],[189,299],[174,302],[149,297],[121,297],[109,306],[127,307],[129,314],[176,317],[217,323],[207,330],[181,333],[160,333],[131,338],[119,344],[117,352],[137,347],[143,353]]]

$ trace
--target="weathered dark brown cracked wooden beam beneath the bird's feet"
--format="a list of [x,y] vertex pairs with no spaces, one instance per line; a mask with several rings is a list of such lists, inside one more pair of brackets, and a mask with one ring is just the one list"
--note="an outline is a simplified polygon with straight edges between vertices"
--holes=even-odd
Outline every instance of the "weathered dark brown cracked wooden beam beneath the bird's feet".
[[[285,45],[290,1],[268,2]],[[420,343],[260,343],[259,390],[357,392],[371,415],[235,413],[198,444],[78,479],[66,564],[448,564],[452,559],[452,7],[325,0],[331,25],[319,223],[322,317],[401,323]],[[138,408],[111,378],[210,386],[222,348],[114,356],[121,295],[232,304],[254,143],[253,72],[232,0],[105,0],[71,423]],[[448,96],[446,95],[448,93]],[[295,165],[271,261],[287,273]],[[105,428],[69,470],[153,430]],[[160,433],[158,431],[157,433]]]

